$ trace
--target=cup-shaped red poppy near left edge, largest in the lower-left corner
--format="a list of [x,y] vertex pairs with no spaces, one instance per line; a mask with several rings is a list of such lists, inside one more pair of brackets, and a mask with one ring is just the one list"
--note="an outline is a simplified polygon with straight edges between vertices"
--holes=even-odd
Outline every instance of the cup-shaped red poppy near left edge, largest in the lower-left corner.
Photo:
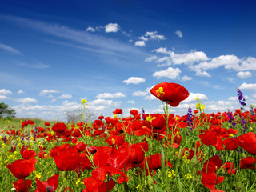
[[18,179],[28,177],[34,170],[37,159],[18,159],[6,165],[10,172]]

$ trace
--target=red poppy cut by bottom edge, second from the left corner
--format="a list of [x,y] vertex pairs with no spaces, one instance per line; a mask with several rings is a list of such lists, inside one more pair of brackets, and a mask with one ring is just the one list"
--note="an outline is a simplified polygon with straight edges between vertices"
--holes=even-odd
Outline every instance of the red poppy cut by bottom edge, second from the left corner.
[[55,174],[45,182],[40,182],[39,179],[36,178],[37,188],[34,192],[54,192],[58,187],[58,176],[59,174]]

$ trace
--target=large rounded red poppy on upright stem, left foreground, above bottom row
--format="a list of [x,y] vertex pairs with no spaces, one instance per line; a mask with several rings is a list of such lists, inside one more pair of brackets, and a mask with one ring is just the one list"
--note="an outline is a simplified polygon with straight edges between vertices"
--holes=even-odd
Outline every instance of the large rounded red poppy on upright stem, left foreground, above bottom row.
[[49,152],[50,156],[54,158],[58,170],[74,170],[78,166],[78,150],[70,146],[70,144],[55,146]]

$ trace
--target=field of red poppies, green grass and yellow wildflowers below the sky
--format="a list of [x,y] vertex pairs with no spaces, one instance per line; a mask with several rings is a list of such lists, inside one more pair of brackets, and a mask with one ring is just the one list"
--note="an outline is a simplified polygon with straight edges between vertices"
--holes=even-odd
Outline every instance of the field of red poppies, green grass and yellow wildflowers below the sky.
[[[150,93],[162,114],[122,109],[84,122],[26,119],[1,128],[0,191],[256,191],[256,108],[207,114],[199,99],[182,116],[171,114],[188,98],[177,83]],[[4,120],[1,120],[4,121]],[[0,127],[1,127],[0,122]]]

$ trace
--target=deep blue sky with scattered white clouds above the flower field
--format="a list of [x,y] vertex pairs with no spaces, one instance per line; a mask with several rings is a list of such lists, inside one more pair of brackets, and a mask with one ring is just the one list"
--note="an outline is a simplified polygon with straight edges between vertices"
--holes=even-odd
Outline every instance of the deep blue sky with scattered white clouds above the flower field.
[[65,119],[122,108],[161,113],[159,82],[185,86],[174,114],[256,104],[254,1],[0,2],[0,102],[18,117]]

